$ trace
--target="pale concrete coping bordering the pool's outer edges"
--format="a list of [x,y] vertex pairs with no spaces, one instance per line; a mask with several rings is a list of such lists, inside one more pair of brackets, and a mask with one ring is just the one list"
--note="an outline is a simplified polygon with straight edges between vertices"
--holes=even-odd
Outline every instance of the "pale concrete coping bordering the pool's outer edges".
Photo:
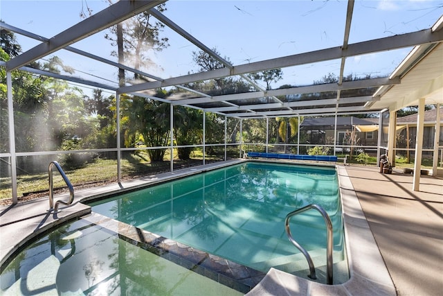
[[[80,190],[75,193],[73,205],[62,207],[62,211],[57,216],[48,213],[48,200],[46,198],[23,202],[14,206],[0,207],[1,266],[3,268],[10,256],[25,245],[27,241],[56,225],[66,222],[66,220],[90,214],[91,208],[81,203],[85,200],[109,196],[109,193],[115,191],[118,193],[132,191],[143,186],[165,182],[172,178],[186,177],[201,171],[210,171],[249,160],[233,159],[227,162],[217,162],[206,166],[151,175],[119,184]],[[262,161],[266,162],[265,160]],[[273,160],[272,162],[318,165],[318,163],[298,161]],[[345,167],[335,164],[321,165],[335,166],[337,170],[343,205],[345,246],[350,279],[343,284],[329,286],[271,268],[262,281],[247,295],[397,295]],[[66,196],[68,196],[68,193],[57,198],[66,199]],[[352,241],[352,245],[350,241]]]

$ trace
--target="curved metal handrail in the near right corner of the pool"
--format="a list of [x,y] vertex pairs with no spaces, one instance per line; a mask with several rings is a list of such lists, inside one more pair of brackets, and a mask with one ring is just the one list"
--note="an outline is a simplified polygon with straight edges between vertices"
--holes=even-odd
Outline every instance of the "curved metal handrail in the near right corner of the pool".
[[332,259],[332,222],[329,218],[329,215],[326,213],[326,211],[320,207],[318,204],[309,204],[306,207],[302,207],[300,209],[296,209],[295,211],[291,211],[291,213],[287,214],[286,219],[284,219],[284,229],[286,229],[286,234],[289,238],[289,241],[293,245],[295,245],[300,252],[302,252],[303,255],[305,255],[305,258],[307,260],[307,263],[309,265],[309,275],[311,279],[316,279],[316,269],[314,267],[314,263],[312,263],[311,256],[307,252],[307,250],[302,247],[300,244],[296,242],[296,240],[293,239],[293,236],[291,234],[291,229],[289,229],[289,220],[292,216],[295,216],[297,214],[300,214],[304,211],[307,211],[308,209],[316,209],[320,212],[321,216],[323,216],[323,219],[325,220],[326,227],[327,227],[327,247],[326,247],[326,260],[327,260],[327,270],[326,270],[326,284],[332,285],[332,278],[333,278],[333,259]]

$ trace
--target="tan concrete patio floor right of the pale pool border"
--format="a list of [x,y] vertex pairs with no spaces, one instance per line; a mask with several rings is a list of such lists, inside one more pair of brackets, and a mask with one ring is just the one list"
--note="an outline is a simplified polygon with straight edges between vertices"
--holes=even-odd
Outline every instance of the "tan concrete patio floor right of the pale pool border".
[[443,179],[347,166],[356,195],[398,295],[443,290]]

